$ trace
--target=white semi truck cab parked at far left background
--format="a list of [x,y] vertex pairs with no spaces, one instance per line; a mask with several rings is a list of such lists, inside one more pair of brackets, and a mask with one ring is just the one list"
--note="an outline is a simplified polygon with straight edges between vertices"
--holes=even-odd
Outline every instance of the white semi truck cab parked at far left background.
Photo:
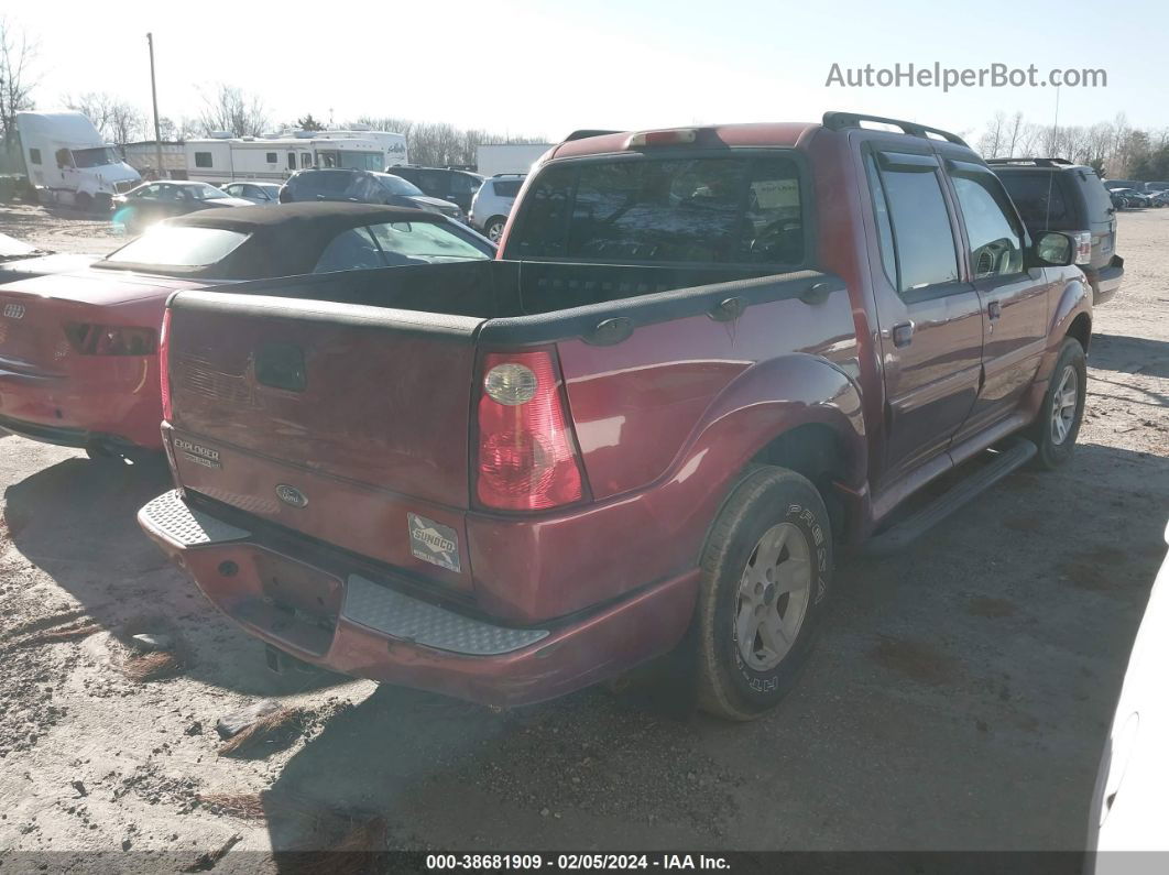
[[28,181],[42,202],[108,210],[116,194],[141,182],[79,112],[18,112]]

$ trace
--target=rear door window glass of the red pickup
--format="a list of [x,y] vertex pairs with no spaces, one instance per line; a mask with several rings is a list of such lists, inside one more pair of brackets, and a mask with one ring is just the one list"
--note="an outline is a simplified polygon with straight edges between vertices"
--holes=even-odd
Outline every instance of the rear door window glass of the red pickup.
[[938,162],[921,155],[883,154],[884,183],[893,244],[897,287],[912,292],[957,279],[957,252],[942,197]]

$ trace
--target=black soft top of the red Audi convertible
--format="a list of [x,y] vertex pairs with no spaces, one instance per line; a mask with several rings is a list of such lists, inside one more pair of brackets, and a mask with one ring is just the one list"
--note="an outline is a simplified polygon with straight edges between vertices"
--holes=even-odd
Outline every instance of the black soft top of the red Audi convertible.
[[383,222],[443,222],[437,213],[369,203],[310,201],[278,207],[222,207],[167,220],[179,228],[222,228],[250,235],[227,257],[203,268],[159,268],[131,262],[97,262],[95,268],[181,277],[267,279],[312,273],[317,259],[347,228]]

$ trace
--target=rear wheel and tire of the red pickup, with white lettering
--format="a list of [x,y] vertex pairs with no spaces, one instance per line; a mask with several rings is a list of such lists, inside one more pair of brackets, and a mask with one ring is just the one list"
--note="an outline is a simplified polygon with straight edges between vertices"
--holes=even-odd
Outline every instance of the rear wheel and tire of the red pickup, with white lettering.
[[811,482],[752,470],[703,551],[696,616],[698,703],[754,720],[791,689],[818,631],[832,579],[832,537]]

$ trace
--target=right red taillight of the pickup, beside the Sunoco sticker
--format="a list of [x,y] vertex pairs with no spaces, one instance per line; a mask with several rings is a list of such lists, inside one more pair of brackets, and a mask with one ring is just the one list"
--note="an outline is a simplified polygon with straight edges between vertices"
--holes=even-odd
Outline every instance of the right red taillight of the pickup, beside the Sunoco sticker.
[[489,353],[482,373],[479,504],[541,511],[579,501],[576,440],[552,352]]

